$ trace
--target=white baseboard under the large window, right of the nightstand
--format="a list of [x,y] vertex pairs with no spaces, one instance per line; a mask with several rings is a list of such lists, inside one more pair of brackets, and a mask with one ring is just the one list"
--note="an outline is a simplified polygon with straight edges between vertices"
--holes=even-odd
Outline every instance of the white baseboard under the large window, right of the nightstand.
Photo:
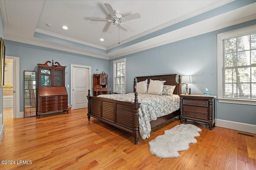
[[256,134],[256,125],[215,119],[215,126]]

